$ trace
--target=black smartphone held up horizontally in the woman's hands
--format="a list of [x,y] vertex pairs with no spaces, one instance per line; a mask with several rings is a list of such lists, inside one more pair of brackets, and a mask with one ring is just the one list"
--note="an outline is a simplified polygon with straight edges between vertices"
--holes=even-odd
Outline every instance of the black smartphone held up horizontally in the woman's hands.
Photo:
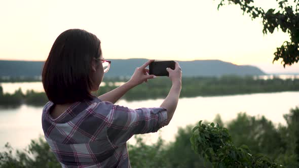
[[175,69],[174,61],[154,61],[149,64],[149,74],[156,76],[169,76],[166,68]]

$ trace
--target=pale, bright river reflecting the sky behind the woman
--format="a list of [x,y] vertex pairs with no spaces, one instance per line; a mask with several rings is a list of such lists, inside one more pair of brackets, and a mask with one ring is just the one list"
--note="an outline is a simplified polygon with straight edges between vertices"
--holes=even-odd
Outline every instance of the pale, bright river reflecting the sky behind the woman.
[[[177,129],[199,120],[212,121],[220,114],[223,121],[236,118],[237,113],[261,116],[272,120],[276,125],[285,124],[283,114],[291,108],[299,106],[299,92],[263,93],[234,96],[181,98],[176,112],[169,125],[161,129],[162,138],[170,142],[174,139]],[[158,107],[163,99],[131,101],[120,100],[116,104],[130,108]],[[41,115],[43,107],[21,105],[14,109],[0,109],[0,151],[6,142],[13,148],[23,149],[31,139],[43,136]],[[148,143],[157,140],[158,134],[146,135]],[[134,139],[129,140],[134,143]]]

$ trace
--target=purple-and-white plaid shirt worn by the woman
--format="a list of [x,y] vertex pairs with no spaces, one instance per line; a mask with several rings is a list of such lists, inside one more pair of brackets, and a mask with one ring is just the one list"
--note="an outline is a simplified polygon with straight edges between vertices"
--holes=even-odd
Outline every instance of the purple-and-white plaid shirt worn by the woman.
[[127,141],[166,124],[164,108],[139,108],[100,101],[76,102],[53,119],[48,102],[42,115],[45,138],[62,167],[131,167]]

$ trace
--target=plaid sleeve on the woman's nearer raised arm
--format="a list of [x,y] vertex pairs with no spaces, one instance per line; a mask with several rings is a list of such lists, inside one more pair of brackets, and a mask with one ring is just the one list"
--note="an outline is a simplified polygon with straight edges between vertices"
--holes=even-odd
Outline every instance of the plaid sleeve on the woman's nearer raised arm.
[[165,108],[138,108],[111,105],[107,135],[111,143],[126,143],[134,134],[154,133],[167,124]]

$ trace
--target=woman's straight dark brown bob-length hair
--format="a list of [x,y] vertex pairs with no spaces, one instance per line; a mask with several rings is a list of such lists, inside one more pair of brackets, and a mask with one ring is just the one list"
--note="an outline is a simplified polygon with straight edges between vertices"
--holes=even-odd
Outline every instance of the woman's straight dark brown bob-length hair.
[[91,99],[93,58],[101,56],[100,40],[81,29],[69,29],[55,40],[45,62],[42,81],[54,104]]

